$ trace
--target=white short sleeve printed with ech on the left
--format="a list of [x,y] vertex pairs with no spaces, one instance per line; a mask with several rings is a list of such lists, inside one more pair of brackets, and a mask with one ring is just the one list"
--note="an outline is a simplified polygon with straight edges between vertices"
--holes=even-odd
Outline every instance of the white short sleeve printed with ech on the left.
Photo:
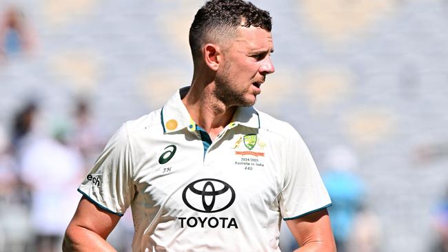
[[128,209],[134,198],[134,183],[131,149],[125,125],[110,138],[78,191],[110,213],[123,216]]

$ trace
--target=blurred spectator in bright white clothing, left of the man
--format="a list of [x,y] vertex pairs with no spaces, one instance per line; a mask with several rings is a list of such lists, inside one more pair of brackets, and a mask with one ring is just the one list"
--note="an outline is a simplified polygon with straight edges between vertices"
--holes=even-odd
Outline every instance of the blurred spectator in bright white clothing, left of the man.
[[77,207],[83,158],[67,145],[65,128],[21,146],[21,176],[32,188],[31,220],[36,251],[60,251],[65,227]]

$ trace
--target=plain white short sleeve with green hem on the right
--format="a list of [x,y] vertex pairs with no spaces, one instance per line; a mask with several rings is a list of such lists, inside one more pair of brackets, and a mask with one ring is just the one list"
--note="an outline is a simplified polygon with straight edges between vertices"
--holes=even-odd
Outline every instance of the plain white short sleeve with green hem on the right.
[[332,202],[307,146],[295,129],[287,141],[279,204],[283,220],[293,220],[329,207]]

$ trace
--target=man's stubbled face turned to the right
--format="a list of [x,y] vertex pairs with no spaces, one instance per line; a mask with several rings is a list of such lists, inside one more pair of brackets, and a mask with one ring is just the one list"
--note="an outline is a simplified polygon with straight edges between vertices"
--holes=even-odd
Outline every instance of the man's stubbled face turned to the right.
[[238,27],[237,36],[223,48],[216,72],[215,96],[227,106],[252,106],[267,74],[274,72],[272,35],[263,28]]

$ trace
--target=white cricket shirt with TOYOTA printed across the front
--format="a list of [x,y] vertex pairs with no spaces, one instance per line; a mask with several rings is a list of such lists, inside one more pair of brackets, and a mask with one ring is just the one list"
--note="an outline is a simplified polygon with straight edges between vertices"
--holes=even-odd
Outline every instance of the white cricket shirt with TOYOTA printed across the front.
[[305,143],[253,107],[211,142],[181,101],[187,88],[125,123],[78,190],[119,216],[132,208],[133,251],[280,251],[281,218],[331,204]]

